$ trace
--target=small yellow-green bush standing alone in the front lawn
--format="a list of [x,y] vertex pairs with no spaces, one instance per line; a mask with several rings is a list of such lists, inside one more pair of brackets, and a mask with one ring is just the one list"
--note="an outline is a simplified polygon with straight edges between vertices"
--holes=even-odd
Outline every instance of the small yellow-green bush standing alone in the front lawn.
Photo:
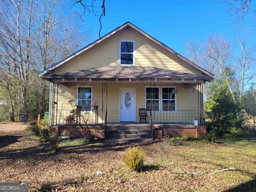
[[124,163],[132,171],[141,171],[143,167],[143,150],[141,147],[129,147],[124,153]]

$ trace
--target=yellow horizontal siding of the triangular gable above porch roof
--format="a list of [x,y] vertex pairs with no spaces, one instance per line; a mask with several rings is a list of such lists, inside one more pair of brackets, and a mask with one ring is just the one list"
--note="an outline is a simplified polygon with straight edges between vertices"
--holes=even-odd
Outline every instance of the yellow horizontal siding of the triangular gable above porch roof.
[[106,65],[119,65],[119,42],[133,40],[135,44],[135,66],[150,66],[191,74],[202,74],[201,71],[175,58],[158,45],[138,34],[131,28],[125,28],[114,36],[95,45],[90,50],[54,69],[55,74],[77,71]]

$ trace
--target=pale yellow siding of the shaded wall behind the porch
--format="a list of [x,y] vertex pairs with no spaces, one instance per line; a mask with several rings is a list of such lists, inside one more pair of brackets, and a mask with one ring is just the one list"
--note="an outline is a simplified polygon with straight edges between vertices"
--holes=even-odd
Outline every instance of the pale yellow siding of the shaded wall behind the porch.
[[[99,109],[102,109],[102,83],[74,83],[70,84],[69,87],[59,86],[58,91],[58,111],[57,111],[57,124],[66,123],[66,117],[70,115],[72,107],[69,103],[70,100],[77,99],[77,87],[78,86],[92,86],[92,103],[94,101],[98,102]],[[145,108],[145,87],[150,86],[147,83],[108,83],[108,122],[119,122],[119,103],[120,103],[120,88],[135,88],[135,97],[136,97],[136,118],[139,122],[138,111],[139,108]],[[165,86],[175,86],[178,90],[177,93],[177,110],[198,110],[197,107],[197,89],[188,88],[185,89],[182,84],[156,84],[158,87]],[[57,93],[57,92],[56,92]],[[99,123],[104,122],[105,111],[106,111],[106,93],[103,98],[103,119],[102,112],[99,111]],[[160,97],[161,98],[161,97]],[[55,101],[57,97],[55,98]],[[161,102],[161,101],[160,101]],[[55,106],[56,109],[56,106]],[[56,111],[55,111],[56,114]],[[54,124],[56,122],[56,115],[54,114]],[[155,113],[157,115],[157,113]],[[160,115],[160,114],[158,114]],[[163,115],[163,114],[162,114]],[[191,115],[195,114],[190,114]],[[196,114],[197,115],[197,114]],[[90,114],[89,122],[94,123],[95,114]],[[173,112],[169,117],[165,117],[166,120],[170,118],[178,118],[177,121],[182,122],[181,113],[177,114]],[[194,117],[193,117],[194,118]],[[149,115],[148,119],[149,121]]]

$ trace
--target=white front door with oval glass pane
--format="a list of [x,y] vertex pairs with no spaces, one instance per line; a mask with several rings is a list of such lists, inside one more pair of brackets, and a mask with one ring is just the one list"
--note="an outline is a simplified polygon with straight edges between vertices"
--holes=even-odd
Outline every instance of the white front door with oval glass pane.
[[120,94],[120,121],[135,122],[135,90],[133,88],[122,88]]

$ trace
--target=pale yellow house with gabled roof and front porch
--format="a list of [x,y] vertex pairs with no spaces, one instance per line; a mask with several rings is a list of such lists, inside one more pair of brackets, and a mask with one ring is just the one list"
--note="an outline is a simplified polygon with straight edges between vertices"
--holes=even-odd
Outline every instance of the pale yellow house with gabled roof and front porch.
[[154,127],[201,137],[202,84],[214,78],[130,22],[39,76],[51,82],[50,126],[132,139],[151,138]]

